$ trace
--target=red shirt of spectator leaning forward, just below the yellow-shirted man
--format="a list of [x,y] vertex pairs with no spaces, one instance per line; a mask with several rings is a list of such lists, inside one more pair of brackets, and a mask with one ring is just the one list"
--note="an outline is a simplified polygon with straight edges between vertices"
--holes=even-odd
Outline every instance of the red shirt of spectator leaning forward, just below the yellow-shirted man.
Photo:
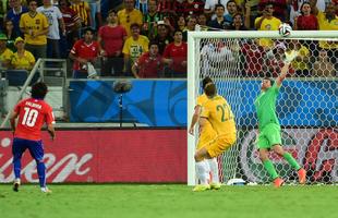
[[162,69],[161,57],[152,58],[149,52],[143,53],[135,64],[140,68],[138,76],[142,78],[156,78]]

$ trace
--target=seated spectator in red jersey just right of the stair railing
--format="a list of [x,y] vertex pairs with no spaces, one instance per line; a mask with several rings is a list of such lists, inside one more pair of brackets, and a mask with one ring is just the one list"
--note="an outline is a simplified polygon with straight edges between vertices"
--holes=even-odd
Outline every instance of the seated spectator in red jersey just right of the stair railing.
[[69,57],[74,61],[73,77],[86,78],[88,76],[88,63],[94,64],[99,56],[98,43],[93,40],[95,31],[87,27],[83,39],[77,40]]

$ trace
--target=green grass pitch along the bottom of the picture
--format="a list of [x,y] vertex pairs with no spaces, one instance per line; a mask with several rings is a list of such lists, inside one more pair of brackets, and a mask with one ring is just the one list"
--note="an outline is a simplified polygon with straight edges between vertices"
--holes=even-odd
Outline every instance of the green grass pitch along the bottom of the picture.
[[222,186],[194,193],[184,184],[51,184],[19,193],[0,185],[1,218],[337,218],[338,186]]

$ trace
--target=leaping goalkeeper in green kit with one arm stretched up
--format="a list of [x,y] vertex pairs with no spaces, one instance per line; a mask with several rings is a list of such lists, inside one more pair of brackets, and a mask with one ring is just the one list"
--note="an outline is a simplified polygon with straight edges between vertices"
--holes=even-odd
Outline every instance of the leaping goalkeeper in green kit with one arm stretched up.
[[259,150],[259,158],[276,187],[281,186],[285,181],[278,175],[271,160],[268,158],[268,152],[270,149],[280,157],[283,157],[298,171],[299,182],[301,184],[304,184],[306,181],[306,171],[300,167],[291,154],[285,152],[281,147],[280,124],[276,114],[276,101],[279,88],[289,71],[290,63],[297,56],[297,51],[286,53],[285,65],[275,82],[268,77],[263,78],[261,94],[254,102],[258,118],[259,134],[257,147]]

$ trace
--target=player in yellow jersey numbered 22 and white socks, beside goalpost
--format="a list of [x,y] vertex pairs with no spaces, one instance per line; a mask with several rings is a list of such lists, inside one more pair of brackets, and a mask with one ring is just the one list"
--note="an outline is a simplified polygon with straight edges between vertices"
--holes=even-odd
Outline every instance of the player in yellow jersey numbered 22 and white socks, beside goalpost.
[[[204,159],[218,157],[236,142],[236,123],[230,105],[222,97],[217,95],[216,85],[207,83],[204,87],[204,93],[207,100],[202,106],[201,118],[207,119],[217,133],[217,136],[209,143],[201,145],[201,148],[195,153],[196,175],[201,181],[193,191],[209,190],[207,183],[207,166]],[[190,133],[193,133],[193,128],[196,120],[193,120],[190,128]]]

